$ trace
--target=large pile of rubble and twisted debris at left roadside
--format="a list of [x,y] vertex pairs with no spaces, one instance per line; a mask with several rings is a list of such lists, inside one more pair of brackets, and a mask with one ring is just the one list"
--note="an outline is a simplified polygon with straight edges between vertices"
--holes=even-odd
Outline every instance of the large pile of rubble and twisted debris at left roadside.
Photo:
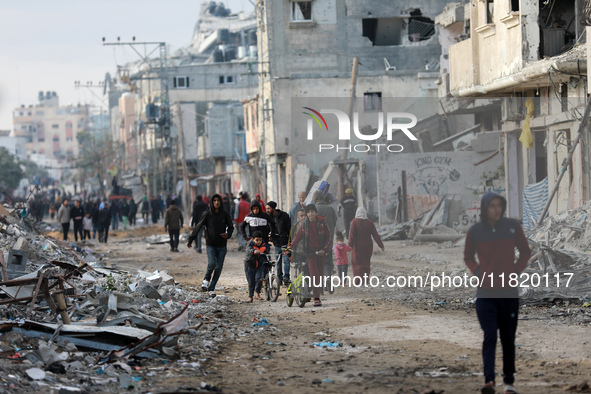
[[221,342],[250,331],[234,323],[225,296],[183,288],[166,271],[110,267],[83,243],[42,235],[17,209],[2,212],[6,390],[118,392],[179,368],[194,376]]

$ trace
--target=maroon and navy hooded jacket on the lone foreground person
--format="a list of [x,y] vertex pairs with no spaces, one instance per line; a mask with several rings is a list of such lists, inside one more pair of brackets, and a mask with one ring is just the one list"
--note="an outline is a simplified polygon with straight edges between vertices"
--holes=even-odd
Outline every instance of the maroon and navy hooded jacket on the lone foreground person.
[[[503,213],[493,227],[486,220],[486,211],[494,198],[501,199]],[[521,274],[531,257],[527,238],[519,223],[503,217],[506,208],[505,198],[492,192],[485,193],[480,203],[480,222],[470,227],[466,235],[464,262],[480,278],[480,286],[476,292],[476,296],[480,298],[517,297],[518,288],[509,285],[509,275]],[[517,262],[516,247],[519,250]]]

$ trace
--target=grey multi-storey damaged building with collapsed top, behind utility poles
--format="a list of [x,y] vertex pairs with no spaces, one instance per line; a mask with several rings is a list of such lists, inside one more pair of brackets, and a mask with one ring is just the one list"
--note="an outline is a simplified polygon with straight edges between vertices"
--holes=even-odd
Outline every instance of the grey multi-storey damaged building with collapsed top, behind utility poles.
[[[161,49],[160,58],[120,67],[118,88],[128,93],[115,109],[120,116],[114,122],[123,130],[117,140],[126,150],[121,160],[137,162],[121,168],[144,175],[150,194],[186,191],[193,200],[241,188],[246,156],[241,100],[258,86],[256,39],[254,14],[205,2],[187,47],[173,54]],[[137,155],[128,143],[135,138]]]

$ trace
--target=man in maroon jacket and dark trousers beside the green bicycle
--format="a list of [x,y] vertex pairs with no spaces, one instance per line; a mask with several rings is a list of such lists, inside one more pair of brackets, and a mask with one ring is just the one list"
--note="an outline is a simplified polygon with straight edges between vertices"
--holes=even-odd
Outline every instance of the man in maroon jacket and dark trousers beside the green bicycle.
[[320,295],[324,279],[324,266],[326,256],[330,254],[332,234],[323,217],[318,215],[314,204],[306,205],[307,218],[302,222],[290,249],[297,250],[300,242],[304,243],[304,250],[308,256],[308,272],[312,292],[314,293],[314,306],[322,306]]

